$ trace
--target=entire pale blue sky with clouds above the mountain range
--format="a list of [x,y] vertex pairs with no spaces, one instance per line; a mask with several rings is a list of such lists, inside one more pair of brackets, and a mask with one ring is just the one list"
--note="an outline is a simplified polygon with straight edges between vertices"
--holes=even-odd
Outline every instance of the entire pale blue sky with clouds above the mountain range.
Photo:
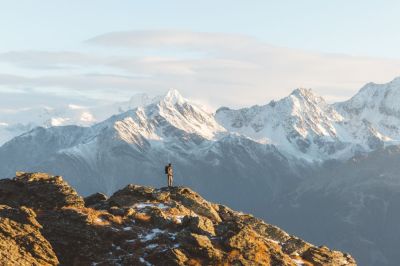
[[398,14],[399,1],[1,1],[0,105],[172,87],[215,108],[297,87],[340,101],[400,76]]

